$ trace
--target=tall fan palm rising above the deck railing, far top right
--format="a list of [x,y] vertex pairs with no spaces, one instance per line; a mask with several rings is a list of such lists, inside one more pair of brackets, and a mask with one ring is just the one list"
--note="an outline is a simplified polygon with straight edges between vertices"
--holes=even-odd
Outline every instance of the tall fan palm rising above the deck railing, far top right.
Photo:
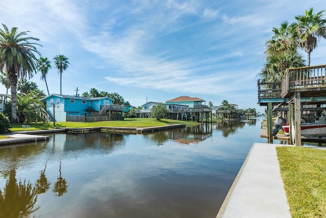
[[298,40],[298,46],[308,54],[308,66],[310,54],[317,47],[318,39],[326,39],[326,19],[322,19],[323,12],[313,14],[313,8],[310,8],[305,15],[295,16],[296,22],[292,24],[293,37]]

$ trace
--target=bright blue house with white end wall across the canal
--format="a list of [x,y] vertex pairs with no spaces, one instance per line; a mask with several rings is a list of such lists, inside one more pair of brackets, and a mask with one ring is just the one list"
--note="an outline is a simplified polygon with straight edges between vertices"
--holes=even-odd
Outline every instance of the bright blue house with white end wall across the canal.
[[[68,116],[96,116],[104,114],[108,105],[112,106],[113,99],[108,97],[86,98],[80,96],[50,94],[40,101],[46,103],[46,111],[53,120],[66,121]],[[104,110],[102,110],[104,109]],[[117,111],[117,107],[112,109]],[[54,112],[53,112],[54,111]],[[101,114],[99,112],[101,111]],[[120,106],[121,111],[121,106]],[[111,111],[110,111],[111,112]]]

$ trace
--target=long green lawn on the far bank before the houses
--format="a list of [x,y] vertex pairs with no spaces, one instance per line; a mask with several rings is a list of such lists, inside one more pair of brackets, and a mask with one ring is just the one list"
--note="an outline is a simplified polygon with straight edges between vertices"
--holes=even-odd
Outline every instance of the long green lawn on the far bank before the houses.
[[[175,119],[161,119],[157,121],[155,118],[125,118],[124,120],[101,121],[92,123],[79,123],[79,122],[56,122],[53,127],[53,122],[27,124],[31,128],[29,130],[48,130],[60,127],[82,128],[82,127],[156,127],[168,124],[186,124],[187,126],[198,125],[198,123],[185,122]],[[22,124],[11,124],[11,131],[23,131]]]

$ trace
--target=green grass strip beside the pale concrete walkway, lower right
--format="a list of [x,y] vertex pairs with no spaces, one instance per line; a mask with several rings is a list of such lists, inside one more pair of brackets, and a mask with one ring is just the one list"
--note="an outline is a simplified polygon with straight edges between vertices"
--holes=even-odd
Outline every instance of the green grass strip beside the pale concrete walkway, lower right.
[[278,147],[292,217],[326,217],[326,150]]

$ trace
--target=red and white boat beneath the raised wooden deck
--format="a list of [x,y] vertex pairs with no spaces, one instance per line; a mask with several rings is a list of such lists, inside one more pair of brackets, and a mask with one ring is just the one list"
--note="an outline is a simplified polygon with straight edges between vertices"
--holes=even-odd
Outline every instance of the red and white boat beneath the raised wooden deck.
[[[289,124],[282,126],[284,134],[290,135]],[[315,123],[301,123],[301,135],[303,136],[326,136],[326,121],[322,116]]]

